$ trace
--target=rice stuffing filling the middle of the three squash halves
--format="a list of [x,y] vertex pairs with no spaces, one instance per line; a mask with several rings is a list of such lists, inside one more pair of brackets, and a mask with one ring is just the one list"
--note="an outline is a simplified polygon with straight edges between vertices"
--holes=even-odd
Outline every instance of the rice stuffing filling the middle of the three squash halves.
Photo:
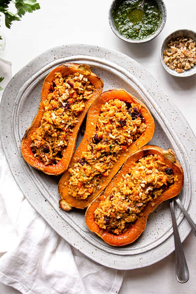
[[128,147],[146,130],[140,110],[140,105],[119,99],[111,99],[102,105],[87,149],[68,170],[70,195],[86,199],[101,188],[101,176],[109,175],[122,153],[127,152]]

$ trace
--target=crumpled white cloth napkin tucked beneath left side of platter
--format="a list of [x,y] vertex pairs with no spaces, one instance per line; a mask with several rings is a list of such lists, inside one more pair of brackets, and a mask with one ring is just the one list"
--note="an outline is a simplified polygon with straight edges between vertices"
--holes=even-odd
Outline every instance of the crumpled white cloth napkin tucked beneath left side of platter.
[[[0,59],[0,70],[7,65]],[[5,71],[4,76],[11,78]],[[98,265],[70,246],[24,197],[5,157],[1,166],[0,252],[6,253],[0,282],[28,294],[118,293],[124,272]]]

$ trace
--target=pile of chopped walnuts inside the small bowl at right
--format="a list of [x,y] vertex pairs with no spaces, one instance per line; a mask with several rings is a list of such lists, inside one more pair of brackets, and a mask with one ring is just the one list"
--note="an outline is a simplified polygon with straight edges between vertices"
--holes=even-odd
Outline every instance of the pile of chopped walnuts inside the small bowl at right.
[[196,42],[191,38],[178,37],[171,40],[164,51],[165,64],[178,74],[196,64]]

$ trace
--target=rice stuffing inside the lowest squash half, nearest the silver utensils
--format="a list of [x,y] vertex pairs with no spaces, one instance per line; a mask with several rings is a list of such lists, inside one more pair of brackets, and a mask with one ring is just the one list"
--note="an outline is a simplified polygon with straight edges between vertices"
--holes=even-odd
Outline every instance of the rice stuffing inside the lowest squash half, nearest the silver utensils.
[[96,208],[96,224],[117,235],[124,233],[148,202],[154,206],[153,200],[176,181],[173,170],[157,154],[139,159]]

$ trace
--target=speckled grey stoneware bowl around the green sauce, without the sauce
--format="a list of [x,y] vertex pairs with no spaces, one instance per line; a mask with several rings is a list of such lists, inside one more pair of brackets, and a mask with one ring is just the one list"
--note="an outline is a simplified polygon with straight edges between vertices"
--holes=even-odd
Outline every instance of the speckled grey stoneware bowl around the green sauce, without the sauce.
[[145,38],[145,39],[142,39],[142,40],[128,39],[128,38],[124,37],[117,30],[117,28],[115,26],[115,23],[114,23],[113,15],[112,15],[113,10],[115,10],[116,7],[121,2],[123,2],[123,0],[113,0],[112,1],[112,4],[110,5],[110,9],[109,9],[109,13],[108,13],[108,19],[109,19],[109,23],[110,23],[111,29],[113,30],[114,34],[118,38],[120,38],[123,41],[129,42],[129,43],[136,43],[136,44],[138,44],[138,43],[145,43],[145,42],[148,42],[148,41],[153,40],[163,30],[163,27],[165,26],[166,16],[167,16],[166,7],[165,7],[165,4],[164,4],[164,2],[162,0],[155,0],[155,2],[158,4],[158,7],[159,7],[160,13],[161,13],[160,26],[155,31],[155,33],[152,34],[152,35],[150,35],[148,38]]

